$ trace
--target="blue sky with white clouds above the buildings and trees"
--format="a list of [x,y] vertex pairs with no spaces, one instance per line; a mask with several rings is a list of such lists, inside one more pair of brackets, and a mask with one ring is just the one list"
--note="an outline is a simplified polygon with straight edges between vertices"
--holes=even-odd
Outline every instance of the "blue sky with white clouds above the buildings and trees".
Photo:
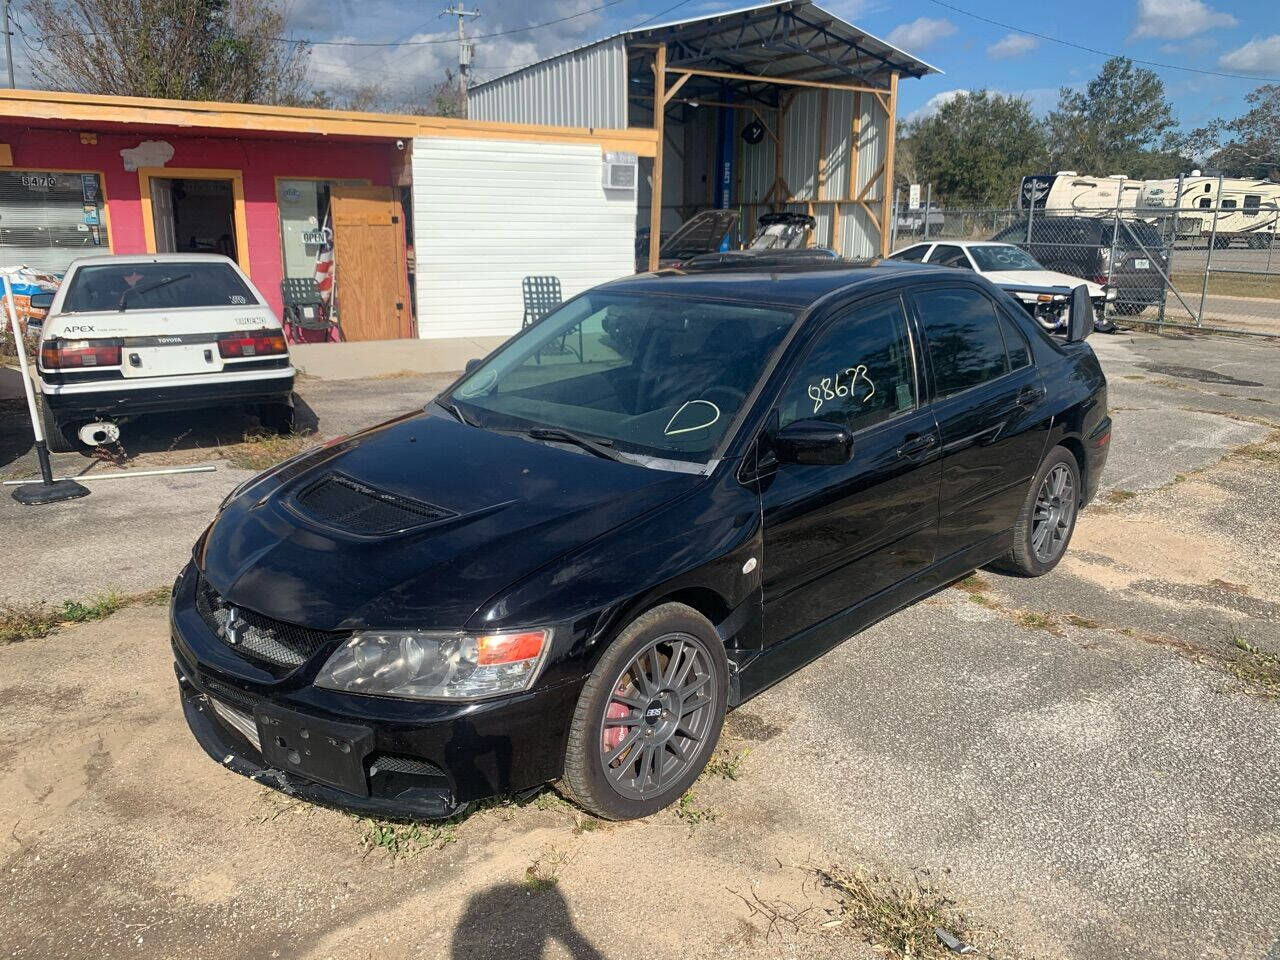
[[[311,81],[319,87],[376,82],[411,96],[457,63],[457,20],[440,15],[442,0],[283,0],[283,5],[291,36],[315,42]],[[494,77],[643,22],[744,5],[744,0],[468,0],[468,9],[481,10],[466,24],[468,36],[477,37],[474,77]],[[908,118],[928,113],[956,91],[983,87],[1025,96],[1043,114],[1061,87],[1083,87],[1108,54],[1169,64],[1152,69],[1188,128],[1239,115],[1245,93],[1267,79],[1280,81],[1277,0],[827,0],[822,5],[943,72],[901,84],[900,113]],[[20,3],[15,6],[20,9]],[[508,32],[554,19],[562,22]],[[19,86],[29,55],[23,41],[19,33],[14,51]],[[358,46],[380,42],[398,46]]]

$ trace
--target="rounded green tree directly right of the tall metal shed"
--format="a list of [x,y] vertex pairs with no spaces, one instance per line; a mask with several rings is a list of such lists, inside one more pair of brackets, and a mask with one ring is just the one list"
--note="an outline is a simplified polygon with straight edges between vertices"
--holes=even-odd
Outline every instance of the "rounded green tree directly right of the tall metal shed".
[[1024,174],[1043,165],[1044,132],[1023,97],[959,93],[906,125],[918,182],[951,206],[1004,206]]

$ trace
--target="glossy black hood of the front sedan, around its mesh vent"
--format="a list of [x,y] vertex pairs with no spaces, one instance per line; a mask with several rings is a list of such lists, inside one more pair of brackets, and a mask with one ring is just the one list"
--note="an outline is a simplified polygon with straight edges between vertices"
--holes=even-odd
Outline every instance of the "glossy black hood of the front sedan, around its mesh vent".
[[[334,475],[448,516],[364,535],[332,520],[342,511],[321,516],[298,499]],[[457,628],[507,585],[703,479],[421,412],[250,485],[214,521],[197,564],[232,603],[314,630]]]

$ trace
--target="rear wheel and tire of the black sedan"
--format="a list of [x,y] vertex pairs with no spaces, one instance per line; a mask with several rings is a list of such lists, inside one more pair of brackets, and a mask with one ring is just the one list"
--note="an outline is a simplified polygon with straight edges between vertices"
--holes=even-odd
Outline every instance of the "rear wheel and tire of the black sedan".
[[[1064,481],[1065,489],[1061,485]],[[1055,489],[1059,492],[1055,493]],[[1065,447],[1051,449],[1036,471],[1027,499],[1018,511],[1014,545],[992,566],[1024,577],[1044,576],[1053,570],[1071,543],[1083,492],[1075,454]],[[1042,535],[1043,524],[1050,524],[1053,532]],[[1043,548],[1037,547],[1039,536],[1048,538]]]

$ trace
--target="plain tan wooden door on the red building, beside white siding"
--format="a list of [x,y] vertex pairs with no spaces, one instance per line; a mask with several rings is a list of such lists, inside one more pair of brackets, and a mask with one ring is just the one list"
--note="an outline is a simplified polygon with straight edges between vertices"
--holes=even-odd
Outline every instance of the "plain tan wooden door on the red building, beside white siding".
[[343,335],[348,340],[412,337],[397,189],[335,186],[329,196]]

